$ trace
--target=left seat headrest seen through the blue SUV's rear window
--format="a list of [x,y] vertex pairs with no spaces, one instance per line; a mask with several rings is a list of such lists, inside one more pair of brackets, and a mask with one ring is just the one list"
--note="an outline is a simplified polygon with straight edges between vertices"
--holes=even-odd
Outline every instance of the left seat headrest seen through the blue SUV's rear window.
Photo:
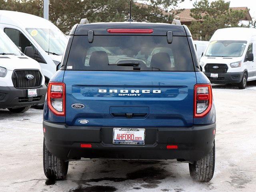
[[108,54],[106,53],[106,51],[92,52],[92,55],[89,61],[90,66],[97,66],[97,69],[101,69],[100,66],[106,66],[108,64],[109,64]]

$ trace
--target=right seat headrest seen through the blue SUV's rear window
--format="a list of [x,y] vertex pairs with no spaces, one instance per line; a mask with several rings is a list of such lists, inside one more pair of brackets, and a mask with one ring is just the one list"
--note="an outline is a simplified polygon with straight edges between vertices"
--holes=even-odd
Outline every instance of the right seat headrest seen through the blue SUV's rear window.
[[[168,53],[156,53],[152,56],[150,65],[158,68],[161,71],[172,71],[171,59]],[[152,66],[151,66],[152,67]]]

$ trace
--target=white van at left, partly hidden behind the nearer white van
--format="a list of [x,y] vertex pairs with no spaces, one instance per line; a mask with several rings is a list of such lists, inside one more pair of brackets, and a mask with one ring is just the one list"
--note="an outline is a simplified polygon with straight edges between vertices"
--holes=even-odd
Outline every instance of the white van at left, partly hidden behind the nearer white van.
[[[0,30],[4,31],[25,55],[40,63],[48,84],[61,62],[67,37],[54,24],[38,16],[0,10]],[[33,51],[25,53],[26,47]]]

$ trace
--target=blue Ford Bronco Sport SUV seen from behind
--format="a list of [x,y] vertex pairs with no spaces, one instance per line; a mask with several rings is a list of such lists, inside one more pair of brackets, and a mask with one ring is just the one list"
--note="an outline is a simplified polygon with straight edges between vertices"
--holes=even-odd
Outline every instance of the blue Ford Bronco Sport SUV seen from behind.
[[185,25],[76,24],[44,105],[44,173],[69,160],[177,159],[214,174],[216,115]]

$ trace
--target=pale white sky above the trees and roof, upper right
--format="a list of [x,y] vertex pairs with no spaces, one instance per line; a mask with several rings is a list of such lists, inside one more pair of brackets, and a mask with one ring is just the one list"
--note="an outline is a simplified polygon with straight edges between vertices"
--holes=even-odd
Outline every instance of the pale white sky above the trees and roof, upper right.
[[[213,2],[214,0],[209,0]],[[252,18],[256,19],[256,0],[224,0],[225,2],[230,1],[230,7],[248,7],[250,9],[250,15]],[[196,0],[184,0],[184,2],[178,5],[178,8],[187,9],[193,8],[193,3]]]

